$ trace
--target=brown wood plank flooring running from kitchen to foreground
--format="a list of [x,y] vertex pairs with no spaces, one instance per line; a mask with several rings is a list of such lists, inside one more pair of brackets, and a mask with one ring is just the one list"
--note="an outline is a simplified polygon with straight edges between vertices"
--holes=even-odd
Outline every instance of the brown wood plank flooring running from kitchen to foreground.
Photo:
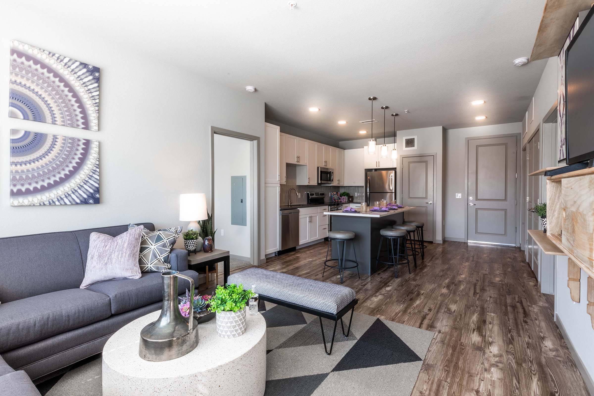
[[[340,283],[322,263],[327,242],[267,259],[261,268]],[[425,259],[399,278],[384,267],[347,273],[355,310],[435,332],[413,395],[588,395],[520,249],[428,243]],[[561,292],[563,285],[559,285]]]

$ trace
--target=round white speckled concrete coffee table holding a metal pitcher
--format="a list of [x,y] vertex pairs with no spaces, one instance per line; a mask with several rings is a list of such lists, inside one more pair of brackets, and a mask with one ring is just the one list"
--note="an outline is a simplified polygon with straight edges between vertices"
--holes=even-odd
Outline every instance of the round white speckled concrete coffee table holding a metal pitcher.
[[217,335],[216,319],[198,325],[196,349],[167,362],[138,356],[140,331],[160,311],[125,325],[103,347],[103,396],[242,395],[266,389],[266,321],[246,315],[247,330],[237,338]]

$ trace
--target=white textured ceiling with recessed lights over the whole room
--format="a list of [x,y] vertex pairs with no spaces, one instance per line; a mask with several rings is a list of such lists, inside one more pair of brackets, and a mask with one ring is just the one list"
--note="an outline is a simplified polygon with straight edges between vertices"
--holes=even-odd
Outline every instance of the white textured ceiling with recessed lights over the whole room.
[[511,63],[530,56],[545,0],[297,0],[293,11],[286,0],[30,3],[65,28],[258,96],[267,118],[339,141],[362,138],[370,95],[374,134],[383,104],[400,113],[397,129],[522,121],[546,62]]

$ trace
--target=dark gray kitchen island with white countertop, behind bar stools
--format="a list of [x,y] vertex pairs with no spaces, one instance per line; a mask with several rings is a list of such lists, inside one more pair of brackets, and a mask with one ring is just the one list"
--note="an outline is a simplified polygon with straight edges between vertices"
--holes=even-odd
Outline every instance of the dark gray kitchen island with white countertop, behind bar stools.
[[[377,271],[375,267],[375,258],[377,257],[377,249],[380,246],[380,230],[383,228],[391,228],[394,224],[402,224],[404,221],[404,213],[412,210],[415,207],[403,207],[398,210],[391,210],[386,213],[380,212],[352,212],[346,213],[342,211],[324,212],[331,216],[333,231],[352,231],[355,233],[355,239],[347,242],[346,259],[355,259],[353,248],[350,243],[355,245],[357,261],[359,263],[359,272],[361,274],[371,275]],[[342,245],[341,245],[342,246]],[[384,243],[384,247],[386,244]],[[337,259],[337,242],[332,241],[332,258]],[[342,255],[341,255],[342,257]],[[346,267],[354,265],[346,262]],[[381,267],[381,264],[380,264]],[[356,272],[356,268],[347,271]]]

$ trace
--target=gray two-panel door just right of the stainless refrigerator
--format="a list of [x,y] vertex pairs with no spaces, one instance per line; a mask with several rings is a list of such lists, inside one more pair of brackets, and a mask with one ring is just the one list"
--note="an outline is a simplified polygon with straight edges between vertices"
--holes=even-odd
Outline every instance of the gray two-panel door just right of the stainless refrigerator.
[[404,213],[405,220],[425,223],[425,240],[434,237],[434,183],[433,156],[403,157],[402,159],[402,205],[414,206]]

